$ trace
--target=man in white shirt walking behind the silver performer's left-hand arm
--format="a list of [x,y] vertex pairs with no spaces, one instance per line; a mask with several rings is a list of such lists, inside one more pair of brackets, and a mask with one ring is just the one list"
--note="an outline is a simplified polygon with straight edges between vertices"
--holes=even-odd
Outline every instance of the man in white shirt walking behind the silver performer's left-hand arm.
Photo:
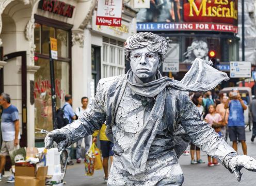
[[[89,99],[87,97],[81,98],[82,106],[79,106],[75,109],[75,114],[77,117],[82,116],[85,112],[88,113],[90,111],[88,102]],[[76,163],[81,163],[82,160],[81,144],[83,139],[85,142],[85,153],[87,153],[92,143],[92,135],[86,136],[85,138],[82,138],[76,142]]]

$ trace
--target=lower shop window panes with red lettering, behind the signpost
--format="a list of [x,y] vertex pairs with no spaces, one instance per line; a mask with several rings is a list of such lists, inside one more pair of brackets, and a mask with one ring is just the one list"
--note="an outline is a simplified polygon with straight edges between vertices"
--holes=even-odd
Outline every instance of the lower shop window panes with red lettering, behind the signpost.
[[[35,65],[40,66],[35,73],[35,128],[52,131],[52,99],[49,59],[39,58]],[[69,94],[69,63],[54,61],[56,105],[60,108],[65,103],[65,95]],[[43,137],[36,134],[36,138]]]

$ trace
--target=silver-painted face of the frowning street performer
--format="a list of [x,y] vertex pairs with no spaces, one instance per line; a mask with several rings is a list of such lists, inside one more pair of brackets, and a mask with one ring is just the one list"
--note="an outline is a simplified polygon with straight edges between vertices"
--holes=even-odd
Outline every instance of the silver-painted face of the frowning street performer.
[[160,66],[157,52],[151,52],[147,47],[139,48],[131,52],[130,59],[136,82],[148,83],[154,80]]

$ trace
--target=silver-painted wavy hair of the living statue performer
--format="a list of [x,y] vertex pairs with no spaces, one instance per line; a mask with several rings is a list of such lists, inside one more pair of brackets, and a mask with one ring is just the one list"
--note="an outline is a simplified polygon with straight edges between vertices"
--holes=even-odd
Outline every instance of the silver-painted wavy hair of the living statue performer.
[[124,44],[126,60],[130,61],[131,51],[143,47],[147,47],[151,52],[157,52],[163,64],[169,43],[162,36],[151,32],[136,33],[130,36]]

